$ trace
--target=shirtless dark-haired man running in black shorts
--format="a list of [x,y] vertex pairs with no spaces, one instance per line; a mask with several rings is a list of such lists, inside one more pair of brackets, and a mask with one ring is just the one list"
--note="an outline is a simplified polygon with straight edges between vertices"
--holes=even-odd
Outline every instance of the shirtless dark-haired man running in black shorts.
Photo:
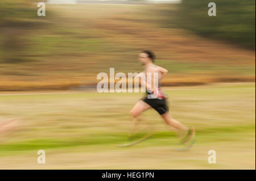
[[[146,86],[147,96],[139,100],[130,111],[131,119],[134,122],[132,133],[134,132],[135,125],[138,122],[138,116],[143,111],[153,108],[160,114],[160,116],[162,116],[167,125],[175,128],[176,131],[180,133],[183,137],[181,138],[181,144],[187,143],[192,138],[192,134],[195,134],[195,129],[189,129],[179,121],[172,118],[167,104],[167,95],[160,87],[160,82],[167,74],[168,70],[154,64],[155,55],[150,50],[144,50],[139,53],[138,59],[145,68],[144,74],[146,75],[146,80],[142,79],[141,83]],[[157,86],[154,85],[154,73],[158,74]],[[147,75],[151,75],[151,78],[147,77]],[[152,98],[148,95],[154,95],[154,97]]]

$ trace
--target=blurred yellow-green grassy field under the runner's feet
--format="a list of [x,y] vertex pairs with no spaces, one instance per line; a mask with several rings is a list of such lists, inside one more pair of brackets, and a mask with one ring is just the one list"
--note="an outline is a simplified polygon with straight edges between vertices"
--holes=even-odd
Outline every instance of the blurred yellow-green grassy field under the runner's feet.
[[[195,146],[174,151],[175,133],[149,110],[138,134],[151,140],[119,148],[141,93],[2,92],[0,121],[20,122],[0,136],[0,169],[255,169],[255,83],[166,87],[172,116],[197,129]],[[1,123],[1,122],[0,122]],[[37,151],[46,151],[46,164]],[[216,150],[217,163],[208,163]]]

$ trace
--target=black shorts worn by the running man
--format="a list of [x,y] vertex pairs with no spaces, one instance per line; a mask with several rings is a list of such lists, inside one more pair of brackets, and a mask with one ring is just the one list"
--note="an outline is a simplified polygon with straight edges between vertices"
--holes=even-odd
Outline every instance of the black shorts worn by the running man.
[[148,99],[142,98],[142,100],[156,110],[160,115],[163,115],[169,110],[167,99]]

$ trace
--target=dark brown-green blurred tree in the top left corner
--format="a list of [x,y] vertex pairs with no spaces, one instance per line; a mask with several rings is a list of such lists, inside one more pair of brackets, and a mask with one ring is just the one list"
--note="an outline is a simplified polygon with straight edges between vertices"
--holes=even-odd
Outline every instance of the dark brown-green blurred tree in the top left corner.
[[30,0],[0,1],[0,61],[26,61],[28,35],[41,24],[37,9]]

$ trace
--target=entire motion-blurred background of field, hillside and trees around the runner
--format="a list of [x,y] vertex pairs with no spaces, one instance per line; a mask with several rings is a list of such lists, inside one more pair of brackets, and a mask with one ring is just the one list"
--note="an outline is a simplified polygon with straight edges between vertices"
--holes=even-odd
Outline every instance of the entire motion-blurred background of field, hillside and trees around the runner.
[[[0,169],[255,169],[255,1],[214,0],[217,16],[209,2],[1,0]],[[118,147],[142,94],[100,94],[96,76],[142,71],[143,49],[168,69],[172,116],[197,129],[189,151],[153,110],[137,134],[155,137]]]

